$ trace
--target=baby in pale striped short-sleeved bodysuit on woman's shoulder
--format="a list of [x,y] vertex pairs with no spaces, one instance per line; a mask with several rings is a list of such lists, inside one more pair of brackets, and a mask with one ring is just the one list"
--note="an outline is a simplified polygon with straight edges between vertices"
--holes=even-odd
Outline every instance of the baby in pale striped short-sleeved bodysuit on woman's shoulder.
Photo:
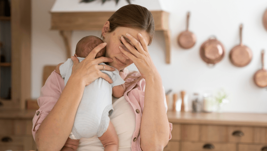
[[[100,43],[103,41],[98,37],[83,37],[76,45],[74,56],[81,62]],[[97,53],[96,58],[105,56],[105,53],[106,47]],[[100,64],[107,66],[105,63]],[[56,67],[56,72],[64,78],[65,85],[71,75],[72,67],[71,59]],[[118,150],[118,136],[109,118],[113,112],[111,95],[116,98],[123,96],[126,90],[125,81],[121,78],[122,72],[117,69],[113,72],[106,70],[101,70],[101,72],[106,73],[113,83],[110,84],[105,79],[98,78],[85,87],[69,138],[78,140],[82,137],[91,138],[97,135],[105,151]],[[63,150],[71,150],[71,148],[64,146]]]

